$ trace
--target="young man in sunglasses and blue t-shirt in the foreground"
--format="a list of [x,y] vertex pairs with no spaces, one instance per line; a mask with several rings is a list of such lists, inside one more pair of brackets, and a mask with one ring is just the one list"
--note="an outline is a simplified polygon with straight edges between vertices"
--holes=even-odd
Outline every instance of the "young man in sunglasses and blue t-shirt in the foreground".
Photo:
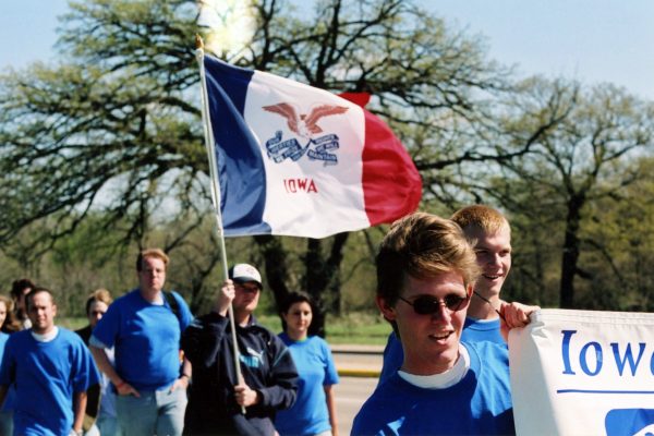
[[[402,218],[376,267],[377,306],[402,338],[404,360],[364,403],[352,435],[513,434],[507,348],[461,342],[480,276],[461,228],[429,214]],[[529,323],[525,306],[498,311],[505,334]]]

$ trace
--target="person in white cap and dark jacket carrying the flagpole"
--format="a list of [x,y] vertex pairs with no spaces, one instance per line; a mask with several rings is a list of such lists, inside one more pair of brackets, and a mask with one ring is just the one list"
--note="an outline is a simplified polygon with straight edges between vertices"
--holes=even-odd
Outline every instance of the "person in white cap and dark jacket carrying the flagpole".
[[[298,391],[298,372],[281,339],[257,324],[262,277],[252,265],[237,264],[218,292],[214,311],[195,319],[182,336],[193,364],[185,434],[276,434],[275,413],[290,408]],[[242,379],[234,368],[232,306]]]

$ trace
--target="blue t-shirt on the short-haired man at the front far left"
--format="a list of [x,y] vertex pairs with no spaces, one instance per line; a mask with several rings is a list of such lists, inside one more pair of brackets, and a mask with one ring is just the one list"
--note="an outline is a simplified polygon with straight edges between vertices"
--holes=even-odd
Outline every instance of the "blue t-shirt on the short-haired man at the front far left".
[[90,352],[74,332],[59,327],[49,342],[32,330],[11,335],[4,348],[0,385],[14,386],[14,434],[68,435],[73,395],[99,382]]

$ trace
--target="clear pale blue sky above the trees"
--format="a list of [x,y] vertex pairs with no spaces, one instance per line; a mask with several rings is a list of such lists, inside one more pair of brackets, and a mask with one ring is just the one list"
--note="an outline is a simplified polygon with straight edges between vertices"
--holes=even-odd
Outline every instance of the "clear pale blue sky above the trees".
[[[489,56],[520,75],[610,82],[654,100],[652,0],[422,0],[458,28],[487,37]],[[68,0],[0,0],[0,70],[56,59]]]

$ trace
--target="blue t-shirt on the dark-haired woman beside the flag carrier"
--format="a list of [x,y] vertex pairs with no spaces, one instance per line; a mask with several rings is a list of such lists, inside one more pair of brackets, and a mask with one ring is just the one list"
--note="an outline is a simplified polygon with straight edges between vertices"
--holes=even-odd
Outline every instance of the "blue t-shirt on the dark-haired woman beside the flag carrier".
[[295,403],[277,412],[275,428],[282,436],[317,435],[331,429],[324,386],[336,385],[338,373],[329,346],[317,336],[299,342],[284,332],[279,337],[291,351],[300,379]]

